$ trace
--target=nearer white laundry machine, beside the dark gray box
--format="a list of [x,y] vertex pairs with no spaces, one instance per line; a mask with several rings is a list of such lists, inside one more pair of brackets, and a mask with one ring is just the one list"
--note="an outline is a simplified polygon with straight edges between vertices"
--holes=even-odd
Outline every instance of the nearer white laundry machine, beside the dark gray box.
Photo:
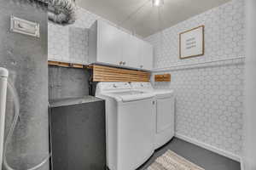
[[106,103],[108,168],[137,169],[154,153],[154,94],[128,82],[99,82],[96,97]]

